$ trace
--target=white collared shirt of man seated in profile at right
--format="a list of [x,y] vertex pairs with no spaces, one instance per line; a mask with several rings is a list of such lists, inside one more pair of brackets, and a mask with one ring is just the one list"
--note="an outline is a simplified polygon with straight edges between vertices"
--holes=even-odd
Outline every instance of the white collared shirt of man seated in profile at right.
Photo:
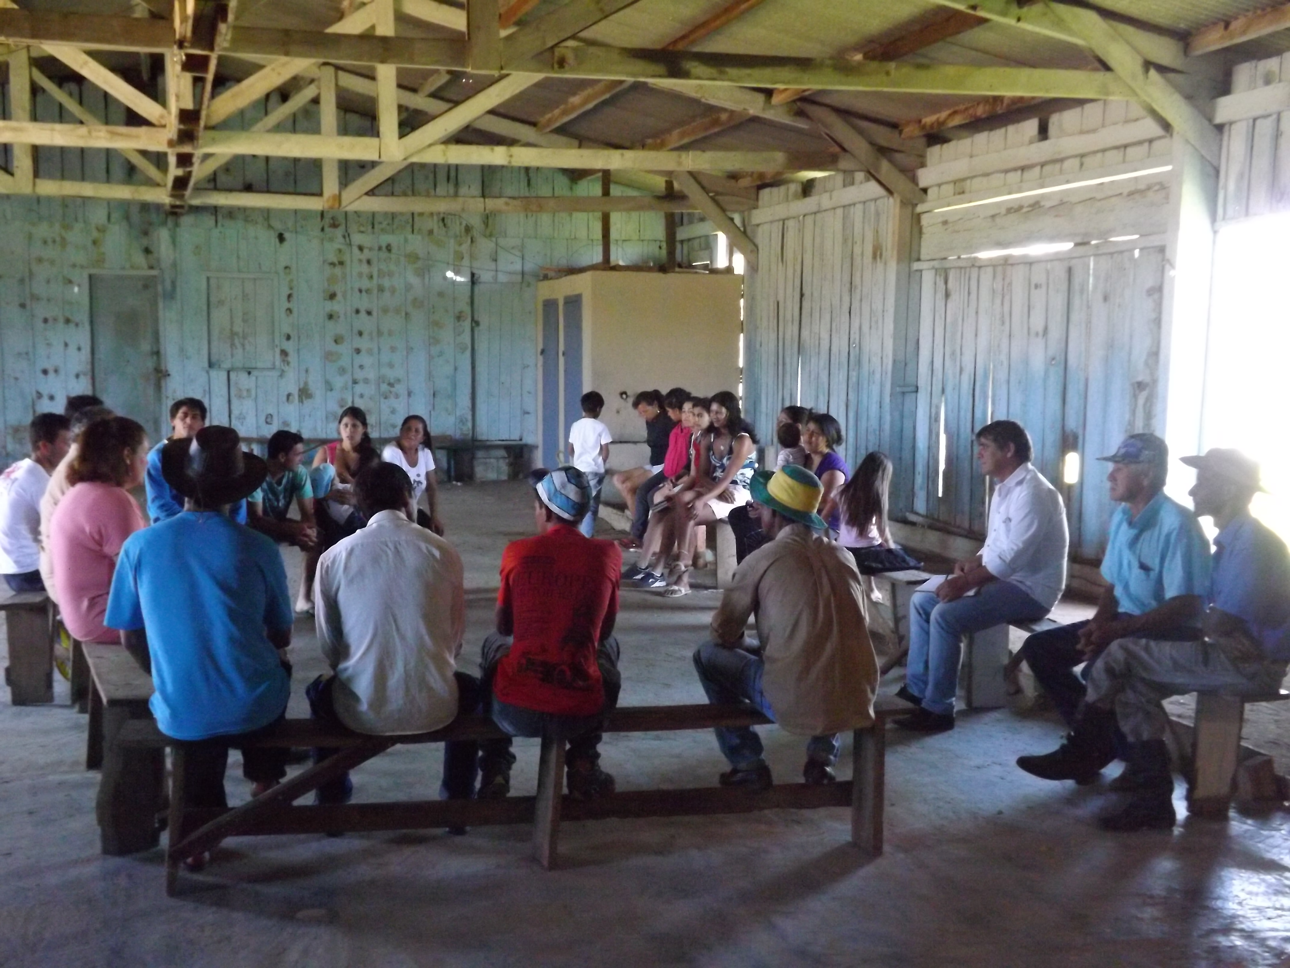
[[1066,589],[1069,543],[1062,494],[1032,463],[1023,463],[995,487],[989,530],[980,550],[991,574],[1053,608]]

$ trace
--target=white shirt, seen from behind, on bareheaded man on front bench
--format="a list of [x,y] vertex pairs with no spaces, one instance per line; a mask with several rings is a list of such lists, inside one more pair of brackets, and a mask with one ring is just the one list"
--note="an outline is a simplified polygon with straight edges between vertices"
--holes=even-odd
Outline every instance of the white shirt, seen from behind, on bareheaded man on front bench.
[[466,590],[452,545],[402,511],[381,511],[319,560],[313,601],[342,723],[396,736],[453,720]]

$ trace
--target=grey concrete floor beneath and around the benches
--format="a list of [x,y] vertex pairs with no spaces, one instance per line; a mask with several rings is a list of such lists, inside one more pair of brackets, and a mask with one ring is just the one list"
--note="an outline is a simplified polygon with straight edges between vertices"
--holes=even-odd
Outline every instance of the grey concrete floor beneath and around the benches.
[[[516,484],[441,493],[466,560],[472,666],[501,549],[526,533],[530,503]],[[702,701],[689,657],[716,600],[623,595],[624,705]],[[302,715],[322,669],[312,620],[297,623],[293,652]],[[800,740],[764,732],[775,776],[800,776]],[[519,826],[248,838],[184,875],[175,900],[160,851],[99,856],[84,716],[0,705],[0,733],[5,968],[1290,964],[1286,814],[1102,834],[1102,787],[1013,765],[1055,745],[1060,729],[1040,714],[962,714],[933,737],[893,731],[886,853],[872,863],[848,847],[841,809],[566,823],[553,872]],[[537,750],[520,741],[517,752],[526,792]],[[708,733],[609,737],[604,754],[622,789],[711,783],[722,768]],[[355,782],[360,799],[432,796],[439,751],[396,749]],[[228,790],[246,795],[236,765]]]

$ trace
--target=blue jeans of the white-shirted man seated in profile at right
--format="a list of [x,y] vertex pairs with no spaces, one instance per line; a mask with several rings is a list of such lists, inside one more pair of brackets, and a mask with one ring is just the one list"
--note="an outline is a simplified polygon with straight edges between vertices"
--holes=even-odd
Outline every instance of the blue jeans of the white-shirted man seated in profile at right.
[[952,715],[962,662],[962,636],[1006,622],[1033,622],[1049,613],[1007,581],[983,585],[975,595],[942,601],[930,591],[909,601],[909,667],[904,688],[922,697],[922,707]]

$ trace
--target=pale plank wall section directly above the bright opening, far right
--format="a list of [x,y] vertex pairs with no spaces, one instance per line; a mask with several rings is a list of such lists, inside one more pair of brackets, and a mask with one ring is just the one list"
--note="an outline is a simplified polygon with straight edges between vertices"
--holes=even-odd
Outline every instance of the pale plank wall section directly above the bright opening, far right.
[[[1290,54],[1232,68],[1232,93],[1290,81]],[[1223,126],[1219,221],[1290,209],[1290,111],[1246,117]]]

